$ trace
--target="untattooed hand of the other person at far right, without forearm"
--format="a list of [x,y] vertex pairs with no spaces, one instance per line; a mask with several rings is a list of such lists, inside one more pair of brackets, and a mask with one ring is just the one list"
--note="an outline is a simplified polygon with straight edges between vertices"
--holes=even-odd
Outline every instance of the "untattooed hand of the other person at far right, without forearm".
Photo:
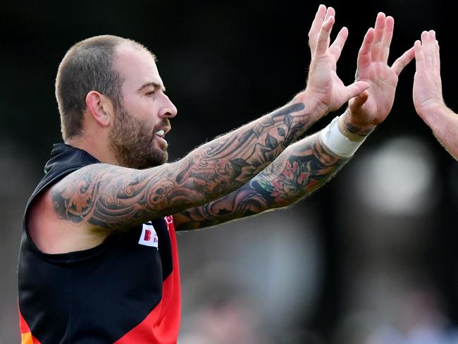
[[421,42],[415,45],[416,72],[414,77],[414,106],[423,118],[425,113],[445,106],[442,98],[442,81],[440,80],[439,44],[435,32],[423,31]]

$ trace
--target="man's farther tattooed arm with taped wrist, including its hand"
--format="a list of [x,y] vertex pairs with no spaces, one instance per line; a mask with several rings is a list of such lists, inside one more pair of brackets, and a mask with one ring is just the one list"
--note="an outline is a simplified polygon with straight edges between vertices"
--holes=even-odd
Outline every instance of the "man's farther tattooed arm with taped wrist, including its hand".
[[[338,121],[328,125],[328,128],[338,125],[339,133],[346,137],[344,145],[347,145],[345,140],[350,146],[359,145],[378,123],[385,120],[394,101],[397,76],[414,57],[413,49],[409,49],[392,67],[388,66],[393,27],[394,20],[379,13],[375,27],[364,37],[357,60],[357,78],[365,80],[371,87],[350,101],[349,109]],[[323,135],[316,133],[288,147],[262,173],[230,195],[175,214],[176,228],[188,230],[214,226],[267,209],[285,207],[307,197],[334,176],[351,157],[344,154],[345,148],[327,147]],[[333,143],[332,139],[326,141]]]

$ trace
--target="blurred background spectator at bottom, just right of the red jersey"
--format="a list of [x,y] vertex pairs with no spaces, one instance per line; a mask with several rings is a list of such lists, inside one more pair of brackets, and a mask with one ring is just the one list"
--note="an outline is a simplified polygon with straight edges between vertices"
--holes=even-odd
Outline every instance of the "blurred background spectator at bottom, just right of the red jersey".
[[189,314],[178,343],[273,343],[257,311],[256,297],[247,293],[228,265],[208,266],[193,282],[194,312]]

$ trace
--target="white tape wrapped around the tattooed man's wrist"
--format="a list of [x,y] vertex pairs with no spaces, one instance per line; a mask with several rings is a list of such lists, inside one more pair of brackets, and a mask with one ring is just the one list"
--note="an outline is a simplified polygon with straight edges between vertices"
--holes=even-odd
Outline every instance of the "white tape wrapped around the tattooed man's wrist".
[[339,130],[339,116],[335,117],[326,128],[321,130],[321,142],[330,150],[330,152],[342,156],[342,158],[349,158],[357,151],[358,147],[362,145],[366,137],[362,141],[352,141]]

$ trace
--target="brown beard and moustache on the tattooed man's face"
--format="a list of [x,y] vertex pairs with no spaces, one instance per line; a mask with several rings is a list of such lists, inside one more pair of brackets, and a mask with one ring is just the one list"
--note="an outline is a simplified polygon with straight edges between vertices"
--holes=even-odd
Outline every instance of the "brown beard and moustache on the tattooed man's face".
[[[167,126],[170,126],[168,120],[160,124],[160,128]],[[119,107],[110,143],[120,166],[142,169],[166,163],[167,147],[156,147],[155,138],[156,130],[150,123],[135,118],[124,106]]]

